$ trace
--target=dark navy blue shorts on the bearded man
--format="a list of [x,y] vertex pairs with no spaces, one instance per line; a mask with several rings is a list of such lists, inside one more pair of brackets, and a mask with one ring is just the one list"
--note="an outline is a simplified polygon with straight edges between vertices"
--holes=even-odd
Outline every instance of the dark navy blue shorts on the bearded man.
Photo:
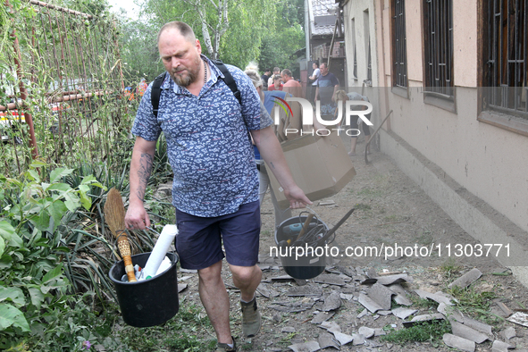
[[222,241],[229,264],[256,264],[261,225],[258,200],[240,205],[235,213],[210,218],[176,209],[176,225],[176,251],[184,269],[205,269],[221,261]]

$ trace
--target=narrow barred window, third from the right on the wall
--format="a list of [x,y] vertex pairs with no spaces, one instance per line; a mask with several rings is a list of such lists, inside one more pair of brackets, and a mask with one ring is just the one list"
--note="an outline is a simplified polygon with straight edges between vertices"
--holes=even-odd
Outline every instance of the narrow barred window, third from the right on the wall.
[[407,88],[405,0],[392,0],[392,87]]

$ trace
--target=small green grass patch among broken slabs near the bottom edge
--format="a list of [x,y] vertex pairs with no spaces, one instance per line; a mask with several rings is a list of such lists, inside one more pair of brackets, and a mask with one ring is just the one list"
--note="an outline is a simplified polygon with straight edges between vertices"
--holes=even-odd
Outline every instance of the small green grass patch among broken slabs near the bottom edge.
[[440,344],[445,333],[451,332],[451,324],[447,320],[416,323],[410,328],[395,330],[390,326],[384,328],[387,335],[381,336],[381,341],[404,345],[406,342],[431,342],[433,346]]

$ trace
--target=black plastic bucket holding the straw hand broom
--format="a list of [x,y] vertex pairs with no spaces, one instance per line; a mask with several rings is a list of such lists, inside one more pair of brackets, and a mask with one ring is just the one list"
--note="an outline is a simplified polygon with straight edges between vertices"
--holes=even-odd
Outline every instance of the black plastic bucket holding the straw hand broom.
[[[132,264],[144,268],[150,252],[132,256]],[[138,328],[165,323],[176,313],[178,301],[178,255],[167,253],[172,265],[163,273],[146,281],[122,282],[125,274],[123,262],[113,264],[110,280],[117,294],[125,323]]]

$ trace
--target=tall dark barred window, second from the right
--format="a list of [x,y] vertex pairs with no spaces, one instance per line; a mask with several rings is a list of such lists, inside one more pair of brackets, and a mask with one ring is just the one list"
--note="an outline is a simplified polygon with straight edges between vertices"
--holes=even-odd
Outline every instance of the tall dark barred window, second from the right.
[[452,100],[453,0],[423,0],[424,92]]

